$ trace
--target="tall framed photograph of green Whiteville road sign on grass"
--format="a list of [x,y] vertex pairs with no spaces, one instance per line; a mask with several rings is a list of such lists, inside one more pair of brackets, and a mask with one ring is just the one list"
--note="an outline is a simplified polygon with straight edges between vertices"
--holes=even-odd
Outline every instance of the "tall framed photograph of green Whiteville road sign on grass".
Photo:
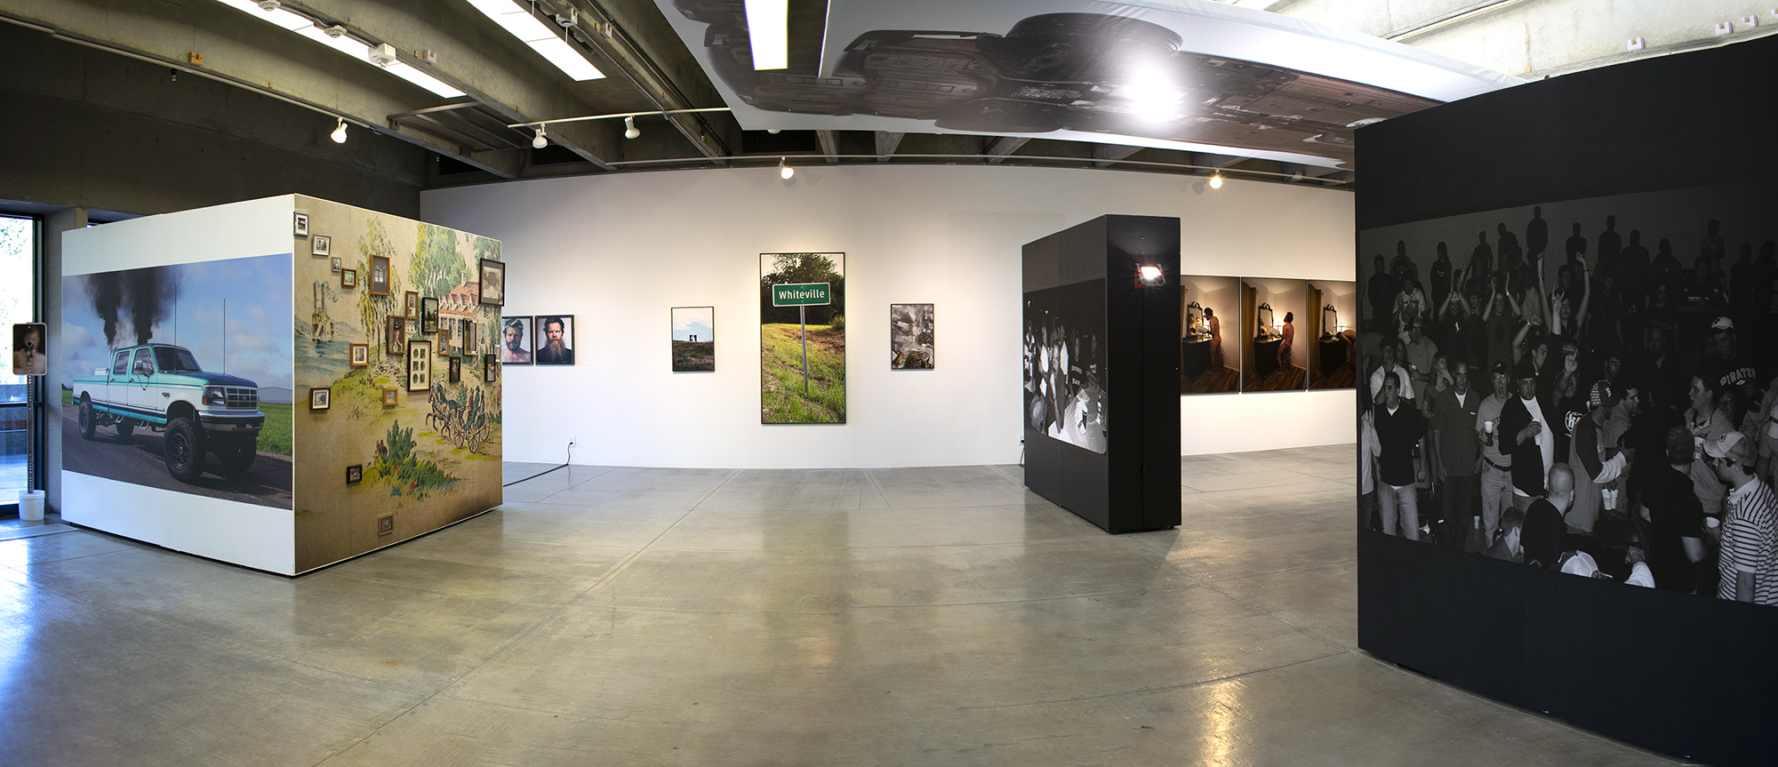
[[759,423],[846,423],[846,254],[759,254]]

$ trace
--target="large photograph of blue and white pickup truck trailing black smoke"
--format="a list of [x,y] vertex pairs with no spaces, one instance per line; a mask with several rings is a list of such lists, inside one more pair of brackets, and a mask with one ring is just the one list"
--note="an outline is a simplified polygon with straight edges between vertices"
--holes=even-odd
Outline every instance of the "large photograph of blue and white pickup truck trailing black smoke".
[[292,504],[290,254],[62,281],[62,465]]

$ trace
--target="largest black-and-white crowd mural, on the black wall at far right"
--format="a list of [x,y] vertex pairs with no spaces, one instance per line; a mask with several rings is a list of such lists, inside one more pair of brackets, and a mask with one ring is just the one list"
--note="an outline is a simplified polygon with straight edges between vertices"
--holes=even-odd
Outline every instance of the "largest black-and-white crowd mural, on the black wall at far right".
[[1358,234],[1360,529],[1778,604],[1778,186]]

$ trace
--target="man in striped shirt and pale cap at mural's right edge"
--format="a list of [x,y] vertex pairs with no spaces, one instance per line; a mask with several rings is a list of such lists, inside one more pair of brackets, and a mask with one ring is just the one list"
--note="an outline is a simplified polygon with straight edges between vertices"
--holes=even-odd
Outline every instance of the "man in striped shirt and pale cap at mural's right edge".
[[1753,442],[1730,431],[1703,444],[1728,499],[1723,504],[1723,577],[1718,597],[1778,604],[1778,495],[1753,476]]

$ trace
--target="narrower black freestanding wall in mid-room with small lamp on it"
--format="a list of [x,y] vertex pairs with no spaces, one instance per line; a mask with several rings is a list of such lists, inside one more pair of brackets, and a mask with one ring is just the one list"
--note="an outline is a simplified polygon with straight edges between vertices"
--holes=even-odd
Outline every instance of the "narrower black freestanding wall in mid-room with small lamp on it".
[[[1140,286],[1157,266],[1159,286]],[[1024,247],[1024,483],[1106,533],[1179,524],[1179,218]]]

